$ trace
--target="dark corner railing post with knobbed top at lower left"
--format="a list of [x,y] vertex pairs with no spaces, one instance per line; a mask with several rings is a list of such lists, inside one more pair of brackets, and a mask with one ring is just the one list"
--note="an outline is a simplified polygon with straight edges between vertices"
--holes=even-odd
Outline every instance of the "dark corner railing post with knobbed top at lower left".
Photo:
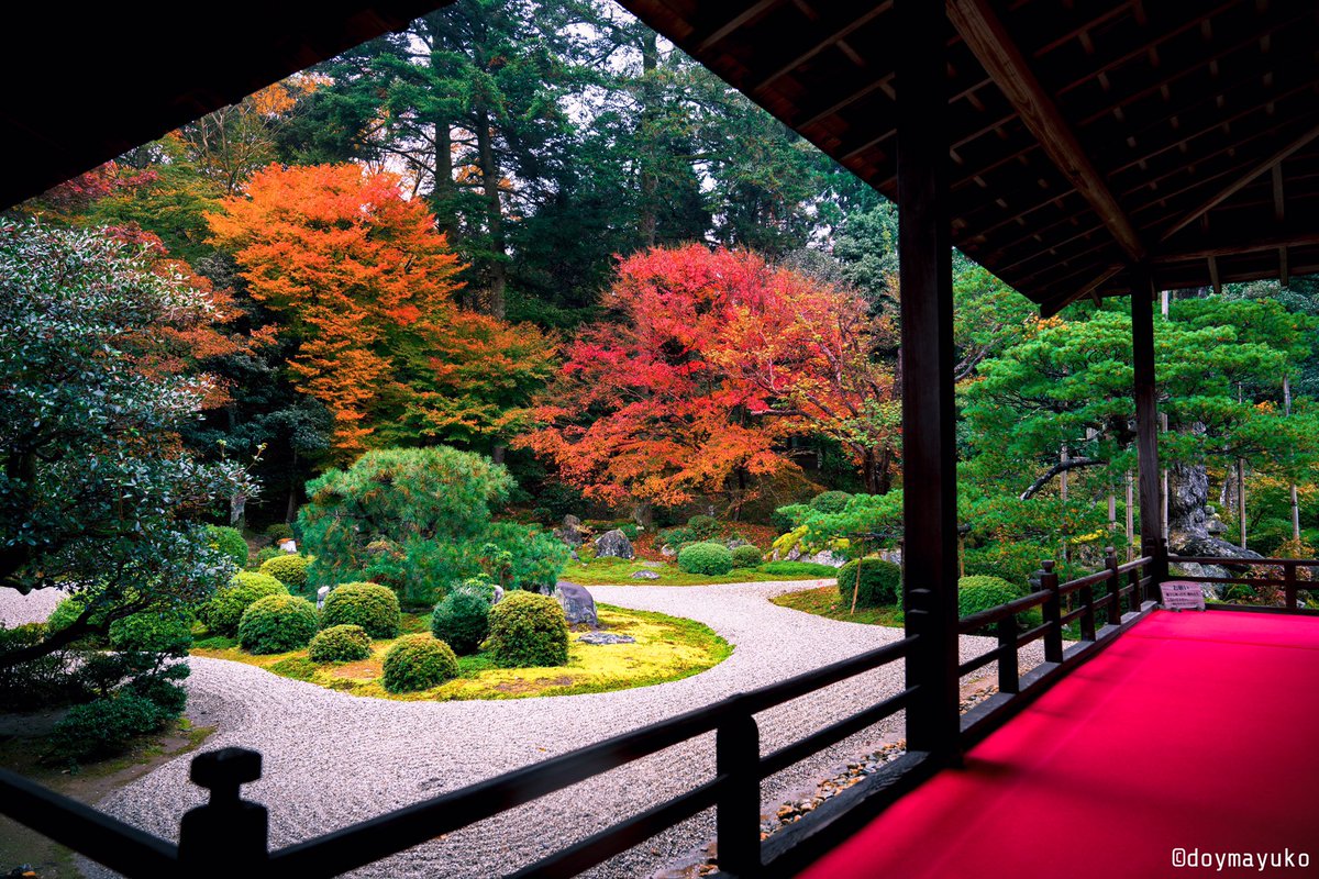
[[270,817],[265,807],[239,796],[241,785],[261,778],[261,755],[224,747],[193,758],[193,783],[211,801],[183,816],[179,865],[189,876],[230,879],[265,875]]

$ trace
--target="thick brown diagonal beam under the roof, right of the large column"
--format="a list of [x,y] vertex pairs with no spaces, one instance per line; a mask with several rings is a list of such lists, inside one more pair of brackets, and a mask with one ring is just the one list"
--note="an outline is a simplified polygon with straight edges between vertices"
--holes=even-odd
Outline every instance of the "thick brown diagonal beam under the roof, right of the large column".
[[1122,250],[1132,260],[1142,260],[1145,245],[1136,227],[1108,190],[1053,99],[1030,71],[1026,58],[989,8],[988,0],[948,0],[948,14],[967,46],[1002,90],[1058,170],[1089,203]]

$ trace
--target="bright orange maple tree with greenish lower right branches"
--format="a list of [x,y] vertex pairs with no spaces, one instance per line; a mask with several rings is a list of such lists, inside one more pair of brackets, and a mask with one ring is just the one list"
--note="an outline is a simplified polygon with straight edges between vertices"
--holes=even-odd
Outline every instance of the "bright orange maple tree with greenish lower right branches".
[[207,220],[297,340],[289,369],[334,418],[331,463],[383,443],[497,438],[550,370],[534,328],[456,307],[463,266],[393,174],[272,165]]

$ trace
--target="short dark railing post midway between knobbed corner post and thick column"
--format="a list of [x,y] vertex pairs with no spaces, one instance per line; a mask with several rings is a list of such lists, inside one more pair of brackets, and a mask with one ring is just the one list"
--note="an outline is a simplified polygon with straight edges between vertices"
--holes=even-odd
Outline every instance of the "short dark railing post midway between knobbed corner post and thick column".
[[715,812],[719,871],[760,875],[760,729],[749,713],[735,710],[715,731],[715,771],[724,778]]

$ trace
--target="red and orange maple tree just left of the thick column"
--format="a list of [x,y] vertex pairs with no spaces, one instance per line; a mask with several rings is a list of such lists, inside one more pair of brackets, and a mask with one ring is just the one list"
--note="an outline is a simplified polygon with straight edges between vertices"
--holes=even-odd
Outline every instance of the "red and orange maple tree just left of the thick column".
[[[518,440],[592,498],[719,494],[794,467],[789,436],[860,438],[892,395],[864,302],[752,253],[633,256],[605,304],[616,322],[578,333],[536,410],[542,426]],[[861,439],[857,457],[872,445]]]

